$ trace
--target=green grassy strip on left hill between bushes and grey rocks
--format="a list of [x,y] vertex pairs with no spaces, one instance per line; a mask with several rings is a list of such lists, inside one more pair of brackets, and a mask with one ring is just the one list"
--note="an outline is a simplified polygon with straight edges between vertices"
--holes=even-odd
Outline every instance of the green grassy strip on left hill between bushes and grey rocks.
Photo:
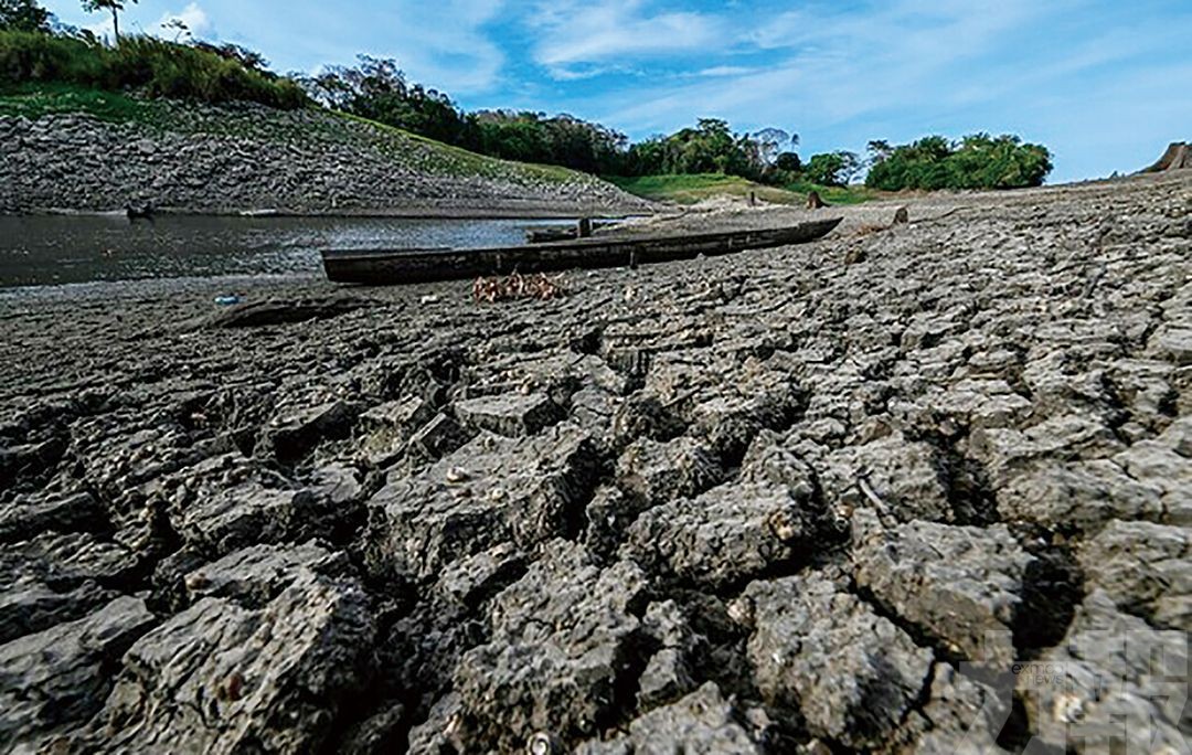
[[0,116],[35,119],[64,113],[86,113],[111,123],[137,123],[149,129],[182,134],[243,136],[298,144],[313,141],[371,148],[396,163],[428,175],[476,175],[557,184],[597,180],[557,166],[486,157],[385,124],[324,110],[190,107],[72,85],[38,83],[0,89]]

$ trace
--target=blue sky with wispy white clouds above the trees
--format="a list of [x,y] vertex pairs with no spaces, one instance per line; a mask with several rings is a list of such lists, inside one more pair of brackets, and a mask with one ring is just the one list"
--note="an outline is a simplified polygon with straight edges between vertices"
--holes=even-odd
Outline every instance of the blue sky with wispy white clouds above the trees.
[[172,36],[172,17],[277,70],[396,57],[467,109],[570,112],[634,138],[720,117],[797,132],[806,157],[1013,132],[1055,153],[1053,182],[1192,140],[1190,0],[142,0],[123,26]]

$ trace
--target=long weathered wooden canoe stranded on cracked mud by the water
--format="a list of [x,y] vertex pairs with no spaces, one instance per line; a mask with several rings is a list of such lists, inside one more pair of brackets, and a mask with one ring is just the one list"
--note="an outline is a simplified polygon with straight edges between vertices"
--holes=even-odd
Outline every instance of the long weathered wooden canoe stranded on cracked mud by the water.
[[842,218],[684,236],[608,236],[479,249],[325,249],[329,280],[393,285],[572,268],[633,267],[815,241]]

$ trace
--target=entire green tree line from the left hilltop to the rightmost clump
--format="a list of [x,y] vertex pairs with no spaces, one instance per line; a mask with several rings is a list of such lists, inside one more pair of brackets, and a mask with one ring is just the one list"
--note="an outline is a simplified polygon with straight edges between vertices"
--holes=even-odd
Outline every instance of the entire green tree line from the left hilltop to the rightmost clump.
[[484,155],[600,175],[722,173],[775,186],[845,186],[868,171],[868,187],[900,191],[1038,186],[1051,169],[1047,148],[987,134],[956,142],[931,136],[898,147],[874,141],[865,157],[838,150],[806,162],[795,151],[797,134],[777,128],[739,134],[716,118],[632,143],[625,134],[565,113],[467,112],[448,94],[409,81],[395,60],[360,56],[355,66],[280,76],[253,50],[193,39],[180,20],[170,23],[172,42],[122,38],[119,13],[136,1],[81,0],[87,11],[112,14],[114,44],[108,47],[89,31],[58,24],[37,0],[0,0],[0,83],[56,81],[275,107],[317,104]]

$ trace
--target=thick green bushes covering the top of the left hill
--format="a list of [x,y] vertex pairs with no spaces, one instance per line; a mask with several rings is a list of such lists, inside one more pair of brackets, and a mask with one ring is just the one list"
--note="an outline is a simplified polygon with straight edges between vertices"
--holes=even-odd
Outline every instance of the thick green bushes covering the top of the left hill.
[[119,47],[106,48],[74,37],[0,31],[0,85],[29,82],[130,88],[149,97],[204,103],[248,100],[285,109],[309,101],[290,79],[185,44],[126,37]]

